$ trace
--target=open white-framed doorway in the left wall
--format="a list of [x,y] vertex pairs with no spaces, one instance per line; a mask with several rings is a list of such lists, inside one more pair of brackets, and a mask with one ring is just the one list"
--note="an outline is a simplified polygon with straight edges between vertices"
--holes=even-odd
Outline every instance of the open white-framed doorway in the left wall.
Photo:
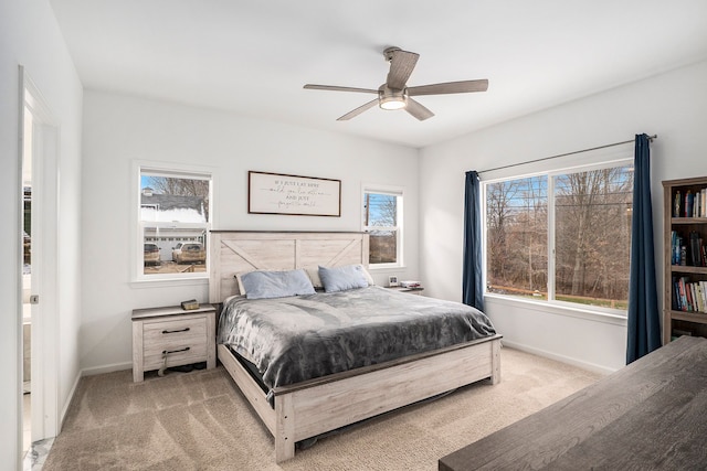
[[[59,126],[36,86],[20,67],[20,191],[22,308],[22,457],[59,432],[57,202]],[[24,413],[28,414],[24,414]],[[27,461],[25,461],[27,462]]]

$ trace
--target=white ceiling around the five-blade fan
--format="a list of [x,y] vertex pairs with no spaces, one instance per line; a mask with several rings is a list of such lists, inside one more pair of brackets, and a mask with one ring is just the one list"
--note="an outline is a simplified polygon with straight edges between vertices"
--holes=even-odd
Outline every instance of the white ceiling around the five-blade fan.
[[[705,0],[51,0],[78,75],[113,90],[424,147],[707,57]],[[436,116],[372,108],[382,51],[420,54]]]

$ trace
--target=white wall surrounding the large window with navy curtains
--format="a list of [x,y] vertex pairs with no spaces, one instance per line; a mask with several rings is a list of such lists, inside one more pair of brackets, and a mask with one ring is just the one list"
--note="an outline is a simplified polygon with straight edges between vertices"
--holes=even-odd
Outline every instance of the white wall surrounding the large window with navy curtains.
[[[707,174],[707,62],[553,107],[422,150],[421,270],[425,291],[461,300],[464,173],[657,133],[652,194],[658,292],[663,278],[661,181]],[[553,161],[563,164],[562,160]],[[538,170],[524,165],[517,172]],[[662,306],[662,304],[661,304]],[[625,364],[625,322],[486,298],[507,344],[599,371]]]

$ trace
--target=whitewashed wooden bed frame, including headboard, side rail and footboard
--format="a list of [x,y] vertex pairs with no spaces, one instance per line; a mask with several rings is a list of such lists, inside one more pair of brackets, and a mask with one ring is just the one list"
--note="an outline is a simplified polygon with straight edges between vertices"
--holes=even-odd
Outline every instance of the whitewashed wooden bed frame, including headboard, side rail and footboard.
[[[238,295],[235,274],[362,264],[368,234],[212,231],[209,300]],[[225,345],[218,356],[275,438],[275,461],[295,456],[295,443],[454,388],[500,381],[500,338],[466,342],[274,389],[274,408]]]

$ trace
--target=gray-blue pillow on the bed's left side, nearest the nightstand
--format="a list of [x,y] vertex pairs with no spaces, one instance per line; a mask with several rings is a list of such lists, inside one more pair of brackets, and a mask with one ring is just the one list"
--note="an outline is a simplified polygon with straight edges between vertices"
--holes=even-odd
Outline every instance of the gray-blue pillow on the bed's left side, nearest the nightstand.
[[247,299],[286,298],[314,295],[305,270],[251,271],[241,277]]

